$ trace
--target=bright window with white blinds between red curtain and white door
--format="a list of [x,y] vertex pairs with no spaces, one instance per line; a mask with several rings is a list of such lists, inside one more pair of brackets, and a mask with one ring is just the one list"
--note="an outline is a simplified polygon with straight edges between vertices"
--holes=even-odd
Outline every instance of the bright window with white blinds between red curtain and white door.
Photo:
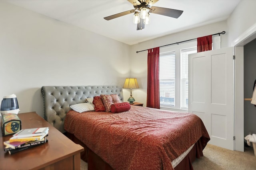
[[188,55],[197,52],[195,46],[160,48],[160,107],[188,109]]

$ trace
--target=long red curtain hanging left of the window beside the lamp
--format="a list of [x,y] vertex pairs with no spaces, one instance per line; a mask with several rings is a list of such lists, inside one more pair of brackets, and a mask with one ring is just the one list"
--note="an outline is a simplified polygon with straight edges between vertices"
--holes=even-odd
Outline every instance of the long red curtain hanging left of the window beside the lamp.
[[159,47],[148,49],[147,107],[160,109]]

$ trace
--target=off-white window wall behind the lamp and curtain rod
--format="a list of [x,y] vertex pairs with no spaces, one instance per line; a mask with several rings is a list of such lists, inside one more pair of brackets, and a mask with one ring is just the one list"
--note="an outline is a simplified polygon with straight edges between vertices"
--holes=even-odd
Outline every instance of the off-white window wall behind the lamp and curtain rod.
[[[171,25],[170,25],[171,26]],[[131,48],[131,76],[137,77],[139,89],[134,89],[132,96],[134,96],[136,102],[144,103],[146,106],[146,94],[147,94],[147,55],[148,51],[142,51],[144,49],[151,49],[162,45],[185,41],[188,39],[194,39],[205,35],[211,35],[226,31],[226,34],[221,35],[221,47],[228,47],[228,30],[226,21],[221,21],[206,26],[189,29],[179,33],[171,34],[165,37],[160,37],[150,41],[145,41],[136,45],[132,45]],[[183,44],[183,43],[182,43]],[[175,45],[172,45],[175,46]],[[177,46],[177,45],[176,45]],[[190,46],[188,46],[190,47]],[[142,51],[136,53],[136,51]],[[160,48],[161,51],[161,48]]]

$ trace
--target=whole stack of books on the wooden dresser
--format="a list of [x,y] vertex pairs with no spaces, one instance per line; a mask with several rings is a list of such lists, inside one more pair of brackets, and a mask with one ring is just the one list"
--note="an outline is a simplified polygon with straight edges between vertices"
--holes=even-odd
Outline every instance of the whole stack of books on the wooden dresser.
[[4,151],[14,154],[25,149],[36,147],[48,142],[49,127],[22,129],[15,133],[9,141],[4,141]]

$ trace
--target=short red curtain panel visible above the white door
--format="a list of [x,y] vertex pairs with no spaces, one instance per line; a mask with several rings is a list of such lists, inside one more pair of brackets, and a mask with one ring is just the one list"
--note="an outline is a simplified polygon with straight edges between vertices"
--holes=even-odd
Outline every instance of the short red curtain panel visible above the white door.
[[197,38],[197,52],[212,50],[212,35]]

